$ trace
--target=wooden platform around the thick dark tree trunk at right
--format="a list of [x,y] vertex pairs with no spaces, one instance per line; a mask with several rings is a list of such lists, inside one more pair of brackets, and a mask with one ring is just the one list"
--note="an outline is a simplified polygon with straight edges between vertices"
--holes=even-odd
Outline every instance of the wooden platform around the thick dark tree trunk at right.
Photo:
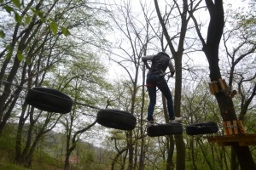
[[207,137],[208,142],[220,146],[239,144],[240,146],[256,145],[256,134],[224,135]]

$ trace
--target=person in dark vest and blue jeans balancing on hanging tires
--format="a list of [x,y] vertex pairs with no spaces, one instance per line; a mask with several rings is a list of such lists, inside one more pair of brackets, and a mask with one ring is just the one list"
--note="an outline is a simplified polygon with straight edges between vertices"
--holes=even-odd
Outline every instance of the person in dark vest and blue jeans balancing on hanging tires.
[[[171,75],[169,77],[173,77],[175,70],[172,65],[172,61],[166,52],[160,52],[154,55],[146,55],[143,58],[143,63],[148,69],[147,79],[146,79],[146,87],[148,88],[148,96],[149,96],[149,105],[148,105],[148,123],[147,126],[154,125],[154,105],[156,104],[156,88],[159,88],[161,93],[164,94],[167,101],[169,122],[181,122],[182,117],[174,116],[173,110],[173,102],[172,102],[172,94],[170,88],[167,85],[165,79],[165,71],[167,67],[169,67]],[[151,67],[148,66],[148,60],[151,61]]]

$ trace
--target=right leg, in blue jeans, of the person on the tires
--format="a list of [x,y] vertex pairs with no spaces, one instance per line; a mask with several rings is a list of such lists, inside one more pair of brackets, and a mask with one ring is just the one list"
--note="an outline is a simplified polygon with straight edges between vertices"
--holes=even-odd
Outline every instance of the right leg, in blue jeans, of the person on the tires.
[[157,87],[160,89],[161,93],[164,94],[164,96],[166,97],[169,119],[172,120],[175,117],[174,109],[173,109],[172,94],[171,94],[170,88],[168,87],[166,79],[164,77],[160,77],[160,81],[157,83]]

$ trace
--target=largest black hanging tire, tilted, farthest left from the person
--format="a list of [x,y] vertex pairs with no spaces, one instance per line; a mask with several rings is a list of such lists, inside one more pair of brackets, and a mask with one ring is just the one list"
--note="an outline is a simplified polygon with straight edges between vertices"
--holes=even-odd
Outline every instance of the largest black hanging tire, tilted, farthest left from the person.
[[39,110],[65,114],[71,111],[73,99],[52,89],[36,87],[28,90],[26,102]]

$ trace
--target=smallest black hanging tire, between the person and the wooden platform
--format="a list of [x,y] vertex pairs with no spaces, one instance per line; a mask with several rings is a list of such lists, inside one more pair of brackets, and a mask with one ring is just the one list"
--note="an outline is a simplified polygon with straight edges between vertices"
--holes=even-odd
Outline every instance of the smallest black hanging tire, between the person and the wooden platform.
[[201,122],[190,124],[186,127],[186,133],[189,135],[197,134],[208,134],[208,133],[217,133],[218,125],[216,122]]

